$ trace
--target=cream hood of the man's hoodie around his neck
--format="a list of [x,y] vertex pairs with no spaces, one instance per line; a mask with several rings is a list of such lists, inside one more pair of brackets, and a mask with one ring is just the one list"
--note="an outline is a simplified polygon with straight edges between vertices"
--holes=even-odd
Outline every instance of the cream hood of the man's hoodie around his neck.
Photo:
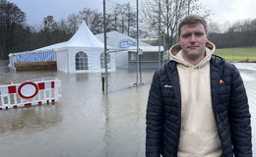
[[180,44],[175,44],[169,49],[170,54],[170,60],[175,61],[179,64],[182,64],[185,67],[191,67],[191,68],[199,68],[204,66],[207,62],[210,61],[212,54],[215,52],[216,46],[211,41],[207,41],[206,43],[206,56],[202,61],[200,61],[197,65],[192,65],[186,60],[183,59],[181,53],[181,46]]

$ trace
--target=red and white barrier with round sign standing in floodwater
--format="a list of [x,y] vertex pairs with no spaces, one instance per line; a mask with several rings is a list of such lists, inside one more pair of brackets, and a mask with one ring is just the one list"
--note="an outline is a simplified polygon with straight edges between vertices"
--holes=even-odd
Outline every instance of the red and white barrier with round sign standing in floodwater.
[[54,103],[61,97],[59,79],[0,86],[0,110]]

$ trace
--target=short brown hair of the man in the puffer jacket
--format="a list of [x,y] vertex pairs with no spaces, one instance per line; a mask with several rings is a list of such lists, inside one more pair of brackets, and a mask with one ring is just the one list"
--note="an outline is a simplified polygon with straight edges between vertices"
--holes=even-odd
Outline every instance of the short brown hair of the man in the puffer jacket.
[[185,17],[178,25],[178,36],[181,33],[181,26],[185,25],[194,25],[194,24],[202,24],[205,27],[206,33],[208,33],[208,26],[204,18],[196,15],[191,15]]

